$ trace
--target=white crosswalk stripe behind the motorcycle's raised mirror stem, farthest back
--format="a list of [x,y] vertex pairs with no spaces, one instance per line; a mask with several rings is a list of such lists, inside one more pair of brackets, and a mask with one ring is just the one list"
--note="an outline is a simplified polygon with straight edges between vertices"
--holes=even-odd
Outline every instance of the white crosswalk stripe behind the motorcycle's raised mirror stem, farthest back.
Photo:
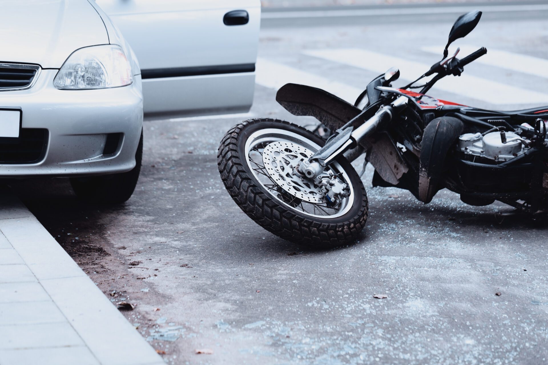
[[[465,56],[477,51],[481,47],[475,45],[459,45],[460,53],[459,58],[464,58]],[[441,55],[440,49],[443,47],[439,46],[425,46],[420,49],[433,53],[436,55]],[[456,47],[453,47],[449,51],[450,54],[455,53]],[[512,71],[528,73],[533,76],[539,76],[548,78],[548,60],[541,59],[539,57],[521,55],[518,53],[513,53],[509,51],[504,51],[500,49],[487,49],[487,54],[479,57],[474,63],[481,63],[482,65],[495,66],[505,69],[510,69]]]

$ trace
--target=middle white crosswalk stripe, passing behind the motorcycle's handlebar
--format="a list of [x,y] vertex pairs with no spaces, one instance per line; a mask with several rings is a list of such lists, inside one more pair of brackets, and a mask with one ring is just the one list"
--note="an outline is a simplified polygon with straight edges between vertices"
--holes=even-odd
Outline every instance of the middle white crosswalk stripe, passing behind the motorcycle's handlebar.
[[[341,48],[307,50],[306,55],[324,60],[343,63],[353,67],[383,73],[390,67],[398,67],[402,78],[413,80],[430,69],[431,65],[409,61],[400,57],[389,56],[364,49]],[[433,63],[433,61],[432,61]],[[434,89],[452,92],[472,99],[485,101],[494,105],[546,103],[548,94],[517,88],[493,80],[483,79],[463,73],[460,77],[448,76],[439,80]],[[429,94],[433,95],[432,92]],[[458,100],[454,100],[458,102]]]

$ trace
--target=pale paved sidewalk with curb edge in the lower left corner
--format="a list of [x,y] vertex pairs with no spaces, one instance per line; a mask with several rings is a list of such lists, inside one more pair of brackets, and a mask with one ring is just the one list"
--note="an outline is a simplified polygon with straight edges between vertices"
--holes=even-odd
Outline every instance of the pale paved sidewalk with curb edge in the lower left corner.
[[35,216],[2,188],[0,207],[0,364],[164,364]]

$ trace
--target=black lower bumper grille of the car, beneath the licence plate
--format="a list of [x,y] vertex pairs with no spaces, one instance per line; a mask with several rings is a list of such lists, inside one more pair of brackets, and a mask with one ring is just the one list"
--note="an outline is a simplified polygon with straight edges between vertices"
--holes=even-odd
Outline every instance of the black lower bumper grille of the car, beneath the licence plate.
[[38,163],[47,147],[47,129],[22,128],[16,142],[0,143],[0,165]]

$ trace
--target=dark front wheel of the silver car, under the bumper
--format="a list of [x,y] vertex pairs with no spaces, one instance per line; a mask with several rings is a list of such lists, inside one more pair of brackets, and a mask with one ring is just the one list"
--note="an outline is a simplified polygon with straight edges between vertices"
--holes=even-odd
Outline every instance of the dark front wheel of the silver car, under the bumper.
[[142,131],[137,152],[135,152],[135,167],[133,170],[111,175],[72,177],[72,190],[79,199],[90,204],[121,204],[133,194],[142,161]]

